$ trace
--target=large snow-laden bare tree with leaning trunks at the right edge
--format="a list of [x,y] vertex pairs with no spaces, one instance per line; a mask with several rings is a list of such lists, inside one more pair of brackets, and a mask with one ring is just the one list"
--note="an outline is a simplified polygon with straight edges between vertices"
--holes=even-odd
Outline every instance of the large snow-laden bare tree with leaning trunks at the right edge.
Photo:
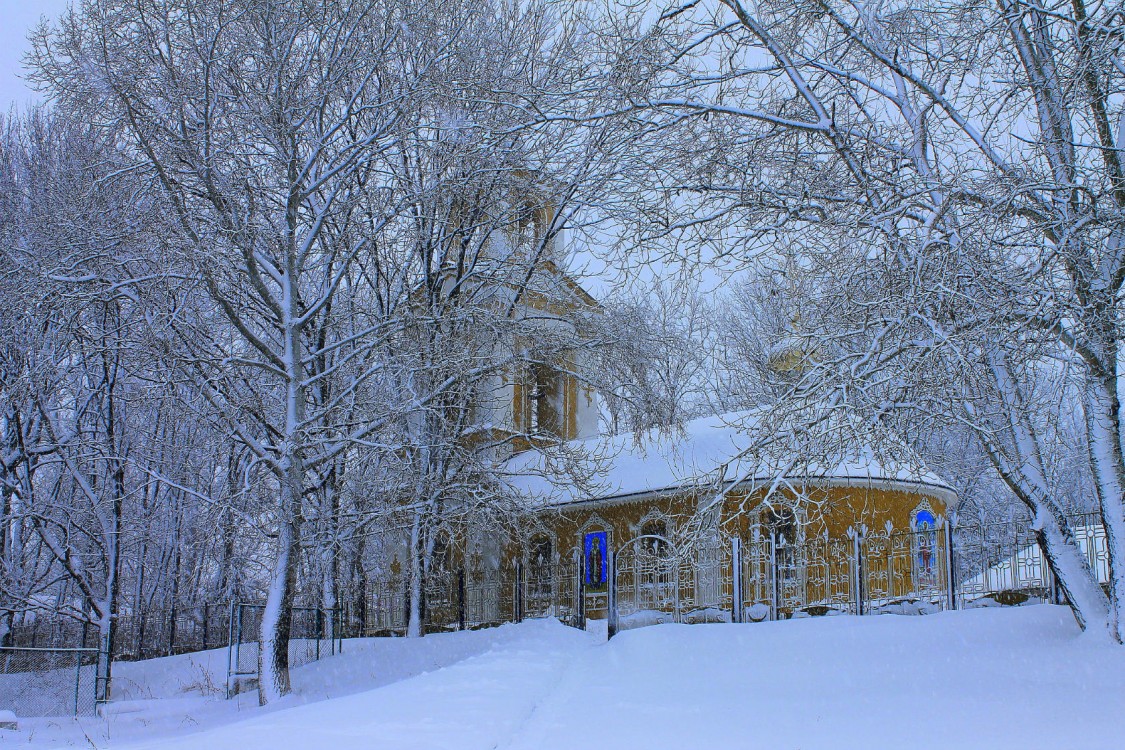
[[[1079,622],[1119,641],[1118,12],[675,4],[633,21],[639,83],[622,91],[668,148],[637,215],[744,257],[782,250],[818,277],[808,291],[836,325],[807,323],[804,396],[834,382],[825,408],[957,414],[1034,515]],[[1080,386],[1108,599],[1043,462],[1032,401],[1051,362]]]

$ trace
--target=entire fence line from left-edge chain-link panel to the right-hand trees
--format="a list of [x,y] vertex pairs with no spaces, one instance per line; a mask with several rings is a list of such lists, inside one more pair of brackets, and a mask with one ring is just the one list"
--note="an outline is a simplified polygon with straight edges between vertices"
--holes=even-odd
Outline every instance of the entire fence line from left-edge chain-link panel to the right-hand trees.
[[[1109,580],[1105,531],[1096,514],[1071,528],[1098,580]],[[649,537],[650,540],[652,537]],[[691,546],[638,537],[610,555],[609,586],[587,590],[577,559],[530,566],[435,571],[418,609],[428,633],[557,617],[585,626],[605,616],[610,632],[660,622],[758,622],[831,614],[926,614],[939,609],[1059,600],[1028,522],[947,523],[848,536],[788,540],[753,531]],[[150,659],[226,645],[227,694],[258,678],[258,603],[184,606],[117,617],[109,659],[99,665],[98,630],[69,618],[15,623],[0,649],[0,710],[17,715],[88,715],[108,695],[114,660]],[[402,635],[411,614],[402,577],[375,582],[362,612],[294,607],[289,666],[339,653],[343,638]],[[101,677],[99,677],[99,675]]]

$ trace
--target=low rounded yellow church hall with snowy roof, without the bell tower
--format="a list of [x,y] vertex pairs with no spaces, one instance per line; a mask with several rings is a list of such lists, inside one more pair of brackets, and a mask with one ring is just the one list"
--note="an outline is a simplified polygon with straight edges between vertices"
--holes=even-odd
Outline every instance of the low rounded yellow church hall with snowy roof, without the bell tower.
[[608,617],[611,577],[620,627],[940,606],[952,488],[870,448],[786,476],[753,450],[763,416],[576,441],[579,481],[514,457],[510,481],[534,507],[528,612]]

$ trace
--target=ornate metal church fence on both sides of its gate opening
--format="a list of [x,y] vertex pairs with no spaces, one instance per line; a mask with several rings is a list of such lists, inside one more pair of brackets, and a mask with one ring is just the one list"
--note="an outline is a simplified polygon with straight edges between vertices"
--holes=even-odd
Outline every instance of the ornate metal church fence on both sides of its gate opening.
[[[1108,580],[1096,516],[1071,519],[1079,545]],[[1046,600],[1053,584],[1029,523],[955,525],[945,518],[908,530],[855,526],[845,537],[753,532],[677,548],[637,537],[612,555],[609,586],[585,589],[577,560],[430,575],[418,603],[425,632],[558,617],[583,626],[604,616],[610,632],[663,622],[759,622],[834,614],[927,614]],[[364,635],[405,634],[410,586],[371,585]]]

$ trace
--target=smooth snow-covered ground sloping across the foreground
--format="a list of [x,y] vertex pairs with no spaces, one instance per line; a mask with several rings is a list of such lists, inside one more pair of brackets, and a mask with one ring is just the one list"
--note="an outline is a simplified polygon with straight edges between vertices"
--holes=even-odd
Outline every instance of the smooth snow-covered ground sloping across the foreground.
[[1125,747],[1125,648],[1047,605],[349,642],[269,710],[223,701],[225,668],[224,651],[118,665],[108,721],[25,720],[0,747]]

